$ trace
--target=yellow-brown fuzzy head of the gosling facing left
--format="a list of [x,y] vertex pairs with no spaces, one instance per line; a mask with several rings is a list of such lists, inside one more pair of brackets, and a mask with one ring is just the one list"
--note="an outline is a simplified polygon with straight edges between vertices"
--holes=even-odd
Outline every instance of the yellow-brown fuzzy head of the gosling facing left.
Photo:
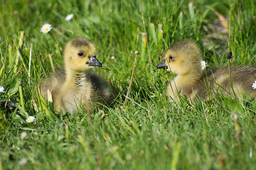
[[201,73],[201,50],[195,42],[184,40],[172,45],[164,55],[164,60],[157,65],[158,69],[166,68],[178,75],[189,72]]

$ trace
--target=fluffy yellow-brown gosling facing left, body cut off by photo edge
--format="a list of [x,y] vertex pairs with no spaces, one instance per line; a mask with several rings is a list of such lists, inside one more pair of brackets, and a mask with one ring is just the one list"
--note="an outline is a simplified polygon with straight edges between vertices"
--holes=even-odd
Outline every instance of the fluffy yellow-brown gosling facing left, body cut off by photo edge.
[[[177,42],[166,51],[164,61],[160,62],[157,68],[177,74],[166,91],[171,101],[179,101],[179,95],[186,96],[191,102],[198,97],[208,100],[209,93],[220,93],[230,97],[235,93],[240,101],[244,94],[249,95],[250,99],[255,98],[256,89],[252,87],[256,80],[255,67],[233,67],[230,74],[228,67],[204,72],[201,61],[201,50],[191,40]],[[233,88],[230,84],[230,75]]]

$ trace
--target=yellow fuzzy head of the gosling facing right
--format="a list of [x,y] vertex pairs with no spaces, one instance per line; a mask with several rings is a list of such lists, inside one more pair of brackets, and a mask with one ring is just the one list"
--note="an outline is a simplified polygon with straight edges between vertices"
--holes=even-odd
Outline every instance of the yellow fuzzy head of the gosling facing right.
[[70,40],[64,50],[65,69],[83,72],[90,67],[102,67],[96,59],[95,46],[89,40],[75,38]]

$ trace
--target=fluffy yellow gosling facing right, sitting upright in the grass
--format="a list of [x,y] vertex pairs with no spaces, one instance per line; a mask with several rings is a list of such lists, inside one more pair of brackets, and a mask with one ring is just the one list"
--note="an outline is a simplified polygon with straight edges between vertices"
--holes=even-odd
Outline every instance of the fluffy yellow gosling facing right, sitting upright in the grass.
[[79,106],[91,110],[95,103],[111,105],[116,94],[107,81],[89,72],[91,67],[102,67],[95,56],[95,46],[89,40],[70,40],[64,50],[65,72],[53,74],[43,81],[41,94],[46,97],[48,89],[53,96],[55,113],[75,113]]

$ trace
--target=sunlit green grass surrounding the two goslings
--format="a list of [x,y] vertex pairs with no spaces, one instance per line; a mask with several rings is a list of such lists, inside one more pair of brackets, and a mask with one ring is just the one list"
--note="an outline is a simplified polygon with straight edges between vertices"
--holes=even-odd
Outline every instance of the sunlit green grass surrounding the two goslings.
[[[256,168],[256,101],[245,106],[217,94],[218,98],[193,106],[186,100],[169,103],[164,94],[169,75],[156,69],[161,52],[186,38],[201,45],[210,67],[227,66],[229,50],[232,65],[255,66],[254,1],[200,0],[188,5],[163,0],[0,0],[0,4],[0,85],[6,91],[0,100],[11,98],[20,108],[0,111],[0,170]],[[225,17],[228,30],[210,8]],[[70,13],[74,18],[67,22]],[[40,32],[44,23],[52,25],[49,33]],[[63,47],[76,37],[95,43],[104,67],[94,71],[112,79],[121,94],[114,108],[91,113],[92,125],[86,111],[49,117],[40,110],[35,90],[50,75],[48,55],[53,54],[53,64],[62,67]],[[141,55],[121,112],[135,51]],[[28,115],[36,120],[25,123],[22,118]],[[27,133],[23,139],[21,132]]]

